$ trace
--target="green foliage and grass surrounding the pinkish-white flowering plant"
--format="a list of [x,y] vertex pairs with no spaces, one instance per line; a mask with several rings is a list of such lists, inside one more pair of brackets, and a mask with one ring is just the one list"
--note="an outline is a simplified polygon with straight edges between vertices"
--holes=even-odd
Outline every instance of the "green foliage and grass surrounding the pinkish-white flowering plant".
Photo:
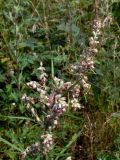
[[[25,83],[37,79],[41,60],[49,75],[54,64],[56,76],[71,79],[70,64],[88,46],[95,2],[0,0],[0,159],[18,159],[39,139],[42,130],[20,100],[29,93]],[[60,119],[56,144],[46,160],[120,160],[120,2],[101,0],[99,10],[102,44],[96,74],[89,75],[94,96],[87,97],[84,109],[68,111]]]

